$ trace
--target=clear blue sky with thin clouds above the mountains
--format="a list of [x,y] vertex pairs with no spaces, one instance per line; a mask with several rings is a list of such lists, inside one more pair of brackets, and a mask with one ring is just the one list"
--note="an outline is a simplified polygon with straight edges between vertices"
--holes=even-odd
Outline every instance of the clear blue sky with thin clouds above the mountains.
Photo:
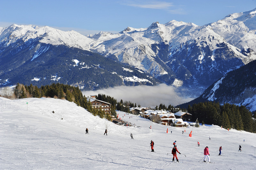
[[202,26],[256,8],[256,0],[0,0],[0,27],[50,26],[83,35],[145,28],[158,21]]

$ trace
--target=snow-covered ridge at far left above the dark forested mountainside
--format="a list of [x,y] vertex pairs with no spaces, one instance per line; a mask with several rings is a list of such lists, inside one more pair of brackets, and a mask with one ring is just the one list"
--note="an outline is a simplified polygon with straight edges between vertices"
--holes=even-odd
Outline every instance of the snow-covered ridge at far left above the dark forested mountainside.
[[37,27],[12,24],[9,27],[3,28],[0,32],[0,43],[4,43],[6,46],[19,40],[26,42],[35,38],[39,38],[41,43],[52,45],[66,44],[83,50],[90,50],[89,44],[92,42],[92,39],[76,31],[61,31],[48,26]]

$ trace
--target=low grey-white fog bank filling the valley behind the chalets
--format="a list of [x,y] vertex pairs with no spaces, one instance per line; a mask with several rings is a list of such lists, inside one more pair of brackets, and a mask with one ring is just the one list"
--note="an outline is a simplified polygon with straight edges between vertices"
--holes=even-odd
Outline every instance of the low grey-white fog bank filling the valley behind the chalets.
[[108,89],[100,89],[95,91],[83,91],[83,95],[91,96],[98,94],[105,94],[120,101],[131,101],[140,104],[142,107],[156,107],[159,104],[168,106],[176,106],[178,104],[186,103],[194,98],[182,97],[179,93],[175,92],[175,88],[160,84],[158,86],[119,86]]

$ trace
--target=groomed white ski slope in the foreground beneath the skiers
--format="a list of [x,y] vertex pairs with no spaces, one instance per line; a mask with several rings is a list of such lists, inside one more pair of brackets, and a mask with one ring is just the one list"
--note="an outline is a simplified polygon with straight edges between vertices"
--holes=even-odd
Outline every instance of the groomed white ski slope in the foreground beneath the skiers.
[[[182,134],[185,128],[118,113],[136,126],[115,125],[66,100],[0,97],[0,169],[256,169],[256,134],[215,125],[188,127]],[[149,151],[151,140],[155,152]],[[175,140],[179,163],[172,162]],[[206,146],[214,163],[203,162]]]

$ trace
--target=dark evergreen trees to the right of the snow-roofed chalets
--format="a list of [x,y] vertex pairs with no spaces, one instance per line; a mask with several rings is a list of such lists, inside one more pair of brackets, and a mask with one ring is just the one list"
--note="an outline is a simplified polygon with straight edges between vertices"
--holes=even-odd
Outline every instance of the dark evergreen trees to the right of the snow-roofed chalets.
[[225,129],[233,128],[256,133],[256,115],[252,115],[245,106],[235,104],[223,104],[204,102],[188,105],[188,113],[192,114],[192,120],[197,118],[206,124],[222,126]]

